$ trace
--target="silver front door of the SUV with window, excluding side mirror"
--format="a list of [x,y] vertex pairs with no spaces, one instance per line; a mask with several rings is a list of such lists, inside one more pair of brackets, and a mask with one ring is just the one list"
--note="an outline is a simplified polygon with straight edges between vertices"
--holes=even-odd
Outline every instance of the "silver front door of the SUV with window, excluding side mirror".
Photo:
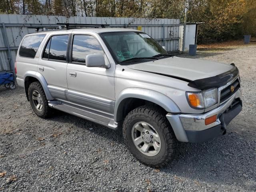
[[103,54],[98,40],[92,35],[73,34],[70,42],[70,62],[67,66],[68,100],[89,108],[114,114],[114,70],[110,68],[86,67],[88,54]]

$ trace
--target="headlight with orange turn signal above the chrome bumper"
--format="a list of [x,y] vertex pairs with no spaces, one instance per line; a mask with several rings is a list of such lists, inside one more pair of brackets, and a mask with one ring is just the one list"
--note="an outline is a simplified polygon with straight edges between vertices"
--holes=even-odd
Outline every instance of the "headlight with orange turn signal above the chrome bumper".
[[186,96],[192,108],[204,109],[218,102],[218,89],[213,88],[202,92],[186,92]]

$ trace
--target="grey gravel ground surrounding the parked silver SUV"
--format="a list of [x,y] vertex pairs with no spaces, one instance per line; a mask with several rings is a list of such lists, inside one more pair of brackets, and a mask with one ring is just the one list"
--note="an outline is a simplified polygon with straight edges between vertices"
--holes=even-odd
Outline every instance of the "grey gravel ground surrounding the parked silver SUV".
[[234,192],[256,191],[256,44],[199,49],[200,58],[240,69],[243,111],[225,136],[179,144],[161,170],[140,164],[122,135],[59,112],[38,118],[22,88],[0,88],[0,191]]

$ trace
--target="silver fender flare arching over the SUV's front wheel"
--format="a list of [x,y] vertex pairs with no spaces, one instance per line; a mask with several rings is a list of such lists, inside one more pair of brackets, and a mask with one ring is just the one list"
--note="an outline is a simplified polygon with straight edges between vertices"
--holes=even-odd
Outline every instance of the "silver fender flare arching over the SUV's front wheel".
[[115,108],[114,108],[114,120],[116,122],[122,120],[121,111],[124,106],[124,104],[122,104],[122,100],[126,98],[138,98],[138,99],[147,100],[155,104],[158,104],[159,106],[164,108],[167,112],[172,112],[172,113],[180,112],[180,108],[178,108],[178,106],[174,103],[174,101],[168,96],[160,92],[144,89],[144,88],[135,88],[135,87],[126,88],[122,90],[122,92],[120,92],[120,94],[118,95],[118,98],[116,99]]

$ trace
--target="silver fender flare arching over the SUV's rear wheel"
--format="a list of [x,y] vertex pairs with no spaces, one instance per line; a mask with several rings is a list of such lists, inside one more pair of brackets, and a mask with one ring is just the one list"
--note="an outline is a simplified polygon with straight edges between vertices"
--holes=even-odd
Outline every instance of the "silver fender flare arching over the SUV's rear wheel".
[[24,82],[26,80],[28,80],[29,76],[36,78],[40,82],[40,84],[42,85],[42,87],[44,89],[44,93],[46,95],[47,100],[53,100],[52,95],[50,94],[50,91],[47,88],[48,84],[47,84],[44,76],[42,76],[42,74],[40,74],[36,71],[27,71],[24,75]]

